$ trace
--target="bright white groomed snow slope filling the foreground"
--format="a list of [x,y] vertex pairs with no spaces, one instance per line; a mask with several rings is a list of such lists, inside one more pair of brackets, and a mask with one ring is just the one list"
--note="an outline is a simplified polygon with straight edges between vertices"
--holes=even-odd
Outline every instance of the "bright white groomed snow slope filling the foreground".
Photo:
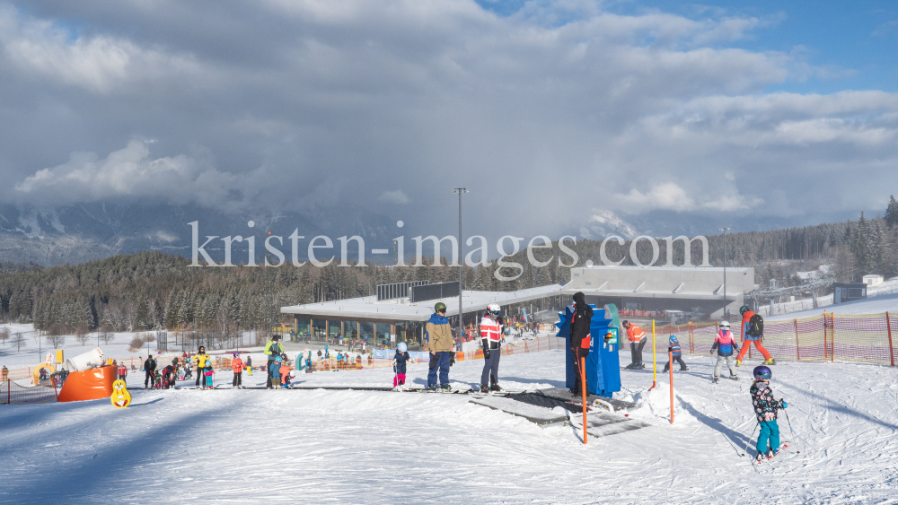
[[[550,335],[503,353],[502,395],[476,391],[484,361],[465,359],[450,370],[454,394],[423,391],[427,363],[411,361],[414,391],[392,390],[388,366],[299,373],[290,390],[265,389],[257,371],[232,388],[227,370],[212,390],[145,390],[137,370],[125,408],[109,397],[0,405],[0,502],[894,503],[895,306],[884,296],[844,316],[766,321],[789,447],[762,463],[750,394],[762,356],[714,383],[717,327],[658,324],[645,369],[626,368],[623,335],[616,347],[594,340],[604,376],[587,382],[617,372],[620,390],[589,397],[585,434],[565,340]],[[651,338],[650,322],[639,326]],[[671,333],[688,370],[663,373]]]

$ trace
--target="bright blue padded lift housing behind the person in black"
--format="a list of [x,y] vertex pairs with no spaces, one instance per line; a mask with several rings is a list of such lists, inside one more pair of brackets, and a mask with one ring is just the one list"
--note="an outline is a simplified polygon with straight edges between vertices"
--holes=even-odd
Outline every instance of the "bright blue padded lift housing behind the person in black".
[[[618,356],[618,329],[614,327],[611,318],[605,318],[604,309],[593,308],[593,318],[590,321],[589,335],[591,343],[589,354],[586,356],[586,385],[593,395],[612,397],[612,393],[621,390],[621,361]],[[570,349],[570,319],[574,314],[574,306],[568,305],[564,312],[559,312],[559,327],[556,336],[565,339],[565,386],[574,387],[574,378],[577,374],[577,366],[574,364],[574,352]],[[613,338],[606,341],[604,335],[611,333]]]

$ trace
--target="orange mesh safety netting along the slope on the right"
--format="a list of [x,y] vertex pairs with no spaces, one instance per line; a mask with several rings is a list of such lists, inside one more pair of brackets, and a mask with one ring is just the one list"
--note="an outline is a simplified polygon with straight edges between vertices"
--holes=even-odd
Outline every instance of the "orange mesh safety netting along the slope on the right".
[[[709,353],[718,333],[718,323],[656,325],[656,352],[666,353],[668,338],[677,335],[683,353]],[[736,340],[740,331],[734,328]],[[778,360],[860,361],[894,366],[896,357],[893,331],[898,316],[883,314],[845,315],[824,312],[804,319],[766,321],[762,345]],[[742,343],[740,343],[742,344]],[[749,347],[747,359],[762,359]]]

